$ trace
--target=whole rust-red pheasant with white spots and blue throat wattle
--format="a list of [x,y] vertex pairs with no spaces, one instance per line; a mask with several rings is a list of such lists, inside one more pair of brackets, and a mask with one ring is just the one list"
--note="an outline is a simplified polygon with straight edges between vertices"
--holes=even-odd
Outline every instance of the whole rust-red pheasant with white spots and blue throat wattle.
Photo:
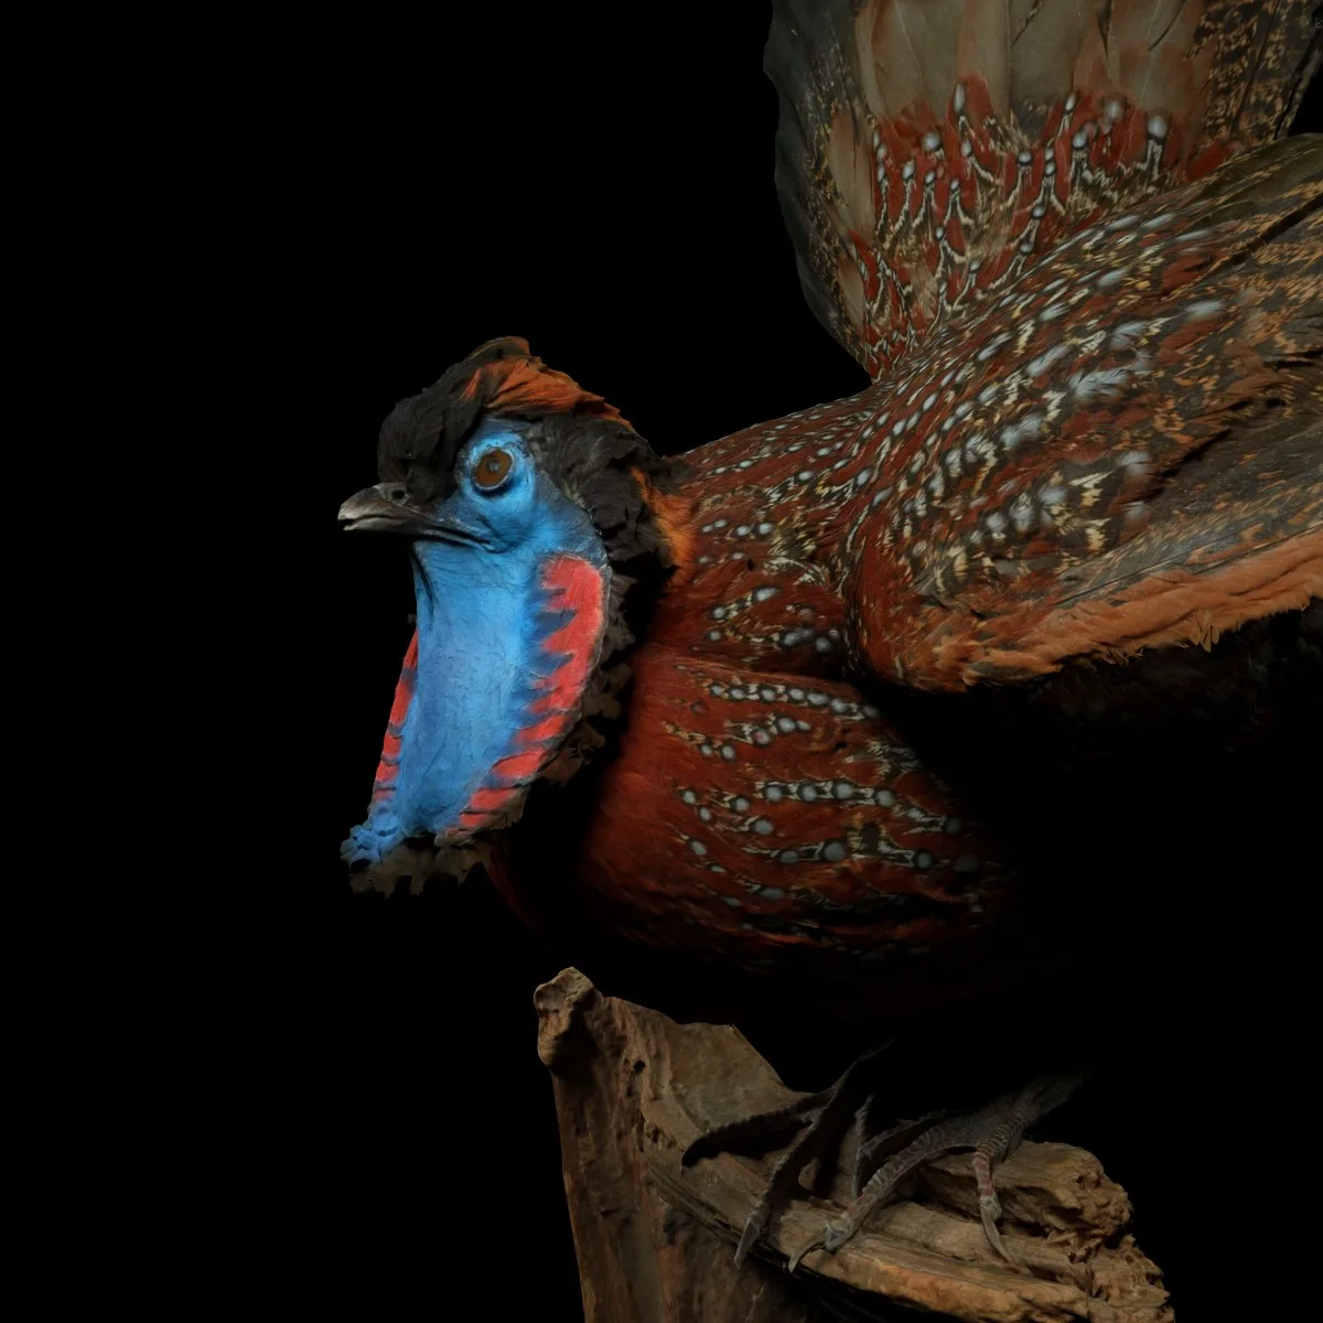
[[[673,460],[519,339],[402,401],[340,511],[417,595],[356,885],[483,864],[529,922],[881,1020],[1252,848],[1323,733],[1318,60],[1290,0],[778,0],[782,209],[872,384]],[[737,1258],[878,1060],[687,1155],[807,1126]],[[873,1135],[816,1244],[966,1147],[1007,1253],[992,1166],[1076,1080]]]

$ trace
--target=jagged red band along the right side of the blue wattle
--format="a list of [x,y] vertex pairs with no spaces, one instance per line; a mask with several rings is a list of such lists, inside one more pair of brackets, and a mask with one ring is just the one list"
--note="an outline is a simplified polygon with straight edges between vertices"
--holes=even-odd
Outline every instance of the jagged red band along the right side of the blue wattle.
[[[550,609],[570,617],[542,640],[542,651],[566,660],[538,681],[541,697],[529,706],[534,720],[515,734],[517,751],[493,765],[492,775],[505,782],[531,781],[556,754],[556,741],[576,720],[579,696],[597,665],[606,626],[606,578],[587,561],[578,556],[549,560],[542,569],[541,586],[550,597]],[[521,786],[487,786],[475,791],[459,815],[459,827],[480,831],[521,792]]]

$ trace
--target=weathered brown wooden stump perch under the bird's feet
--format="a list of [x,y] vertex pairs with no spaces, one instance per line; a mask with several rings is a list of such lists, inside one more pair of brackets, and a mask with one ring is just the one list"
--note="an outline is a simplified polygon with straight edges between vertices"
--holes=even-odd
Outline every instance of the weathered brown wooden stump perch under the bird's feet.
[[775,1154],[681,1168],[703,1131],[795,1097],[729,1025],[676,1024],[603,996],[578,970],[537,990],[538,1054],[554,1078],[570,1222],[589,1323],[896,1319],[1170,1323],[1158,1267],[1126,1230],[1130,1200],[1098,1160],[1025,1143],[995,1174],[1019,1271],[988,1248],[970,1154],[923,1171],[916,1201],[880,1209],[837,1254],[791,1253],[848,1197],[851,1140],[830,1199],[774,1215],[737,1270],[733,1246]]

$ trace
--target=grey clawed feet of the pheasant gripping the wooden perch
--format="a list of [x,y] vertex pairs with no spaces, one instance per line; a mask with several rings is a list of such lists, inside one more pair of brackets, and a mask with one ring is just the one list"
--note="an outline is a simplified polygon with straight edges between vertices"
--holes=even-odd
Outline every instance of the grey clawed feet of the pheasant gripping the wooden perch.
[[1078,1088],[1082,1073],[1040,1074],[978,1111],[930,1111],[917,1121],[901,1121],[882,1127],[878,1125],[881,1113],[875,1088],[885,1046],[859,1057],[832,1089],[778,1111],[709,1130],[685,1150],[681,1163],[689,1167],[701,1158],[738,1150],[750,1142],[766,1144],[766,1140],[778,1135],[803,1130],[777,1162],[767,1188],[745,1221],[744,1234],[736,1249],[737,1267],[767,1228],[775,1205],[789,1200],[792,1193],[803,1192],[800,1175],[814,1160],[819,1163],[819,1184],[822,1183],[835,1163],[851,1118],[859,1140],[852,1174],[853,1200],[840,1217],[830,1221],[818,1236],[795,1252],[787,1265],[791,1273],[815,1249],[835,1254],[876,1208],[896,1196],[905,1176],[958,1148],[974,1150],[979,1218],[988,1244],[1007,1263],[1020,1266],[1007,1249],[998,1225],[1002,1204],[992,1184],[992,1171],[1015,1152],[1029,1126],[1066,1101]]

